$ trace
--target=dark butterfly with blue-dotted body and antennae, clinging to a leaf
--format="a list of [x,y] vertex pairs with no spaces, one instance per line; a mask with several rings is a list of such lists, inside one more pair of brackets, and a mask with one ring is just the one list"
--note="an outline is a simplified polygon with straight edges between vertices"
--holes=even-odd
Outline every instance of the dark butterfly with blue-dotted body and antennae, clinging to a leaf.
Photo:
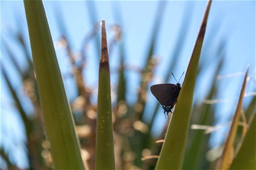
[[[181,80],[181,78],[179,78],[179,80]],[[175,76],[174,79],[176,80]],[[181,84],[179,82],[177,82],[177,84],[155,84],[150,87],[150,91],[162,105],[163,113],[166,113],[167,116],[169,117],[168,113],[173,113],[171,110],[173,109],[174,105],[178,102],[177,99],[179,96],[179,92],[181,91]]]

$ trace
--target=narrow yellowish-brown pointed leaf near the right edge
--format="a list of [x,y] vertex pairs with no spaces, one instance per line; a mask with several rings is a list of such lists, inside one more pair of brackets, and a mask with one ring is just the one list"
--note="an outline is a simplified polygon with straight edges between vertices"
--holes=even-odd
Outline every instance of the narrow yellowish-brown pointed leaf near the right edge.
[[244,82],[242,84],[242,89],[241,89],[240,97],[239,97],[238,104],[237,104],[237,109],[236,109],[236,112],[234,113],[232,125],[229,130],[228,138],[226,139],[226,142],[224,145],[223,154],[221,155],[221,158],[219,159],[217,169],[228,169],[229,165],[230,165],[230,160],[233,159],[231,157],[232,150],[233,150],[233,144],[234,144],[234,139],[235,139],[236,133],[237,133],[238,122],[240,120],[242,101],[244,99],[244,94],[245,94],[248,70],[249,70],[249,66],[246,69]]

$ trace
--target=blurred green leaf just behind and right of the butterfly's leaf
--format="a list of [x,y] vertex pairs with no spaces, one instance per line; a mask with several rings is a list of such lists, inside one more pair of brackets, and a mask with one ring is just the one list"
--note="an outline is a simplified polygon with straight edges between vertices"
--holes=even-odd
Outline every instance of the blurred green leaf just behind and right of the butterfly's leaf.
[[[223,58],[219,62],[217,69],[215,71],[215,75],[212,79],[212,85],[208,92],[206,99],[212,99],[213,96],[216,95],[217,91],[217,75],[220,73],[220,69],[223,67]],[[196,111],[193,111],[194,117],[197,120],[193,121],[191,118],[191,124],[199,124],[199,125],[212,125],[214,120],[213,114],[213,105],[210,104],[200,104]],[[188,133],[190,145],[186,148],[186,156],[184,158],[183,169],[204,169],[207,161],[205,160],[205,153],[209,150],[208,148],[208,140],[209,134],[204,134],[203,130],[191,130]],[[204,163],[202,163],[204,162]]]

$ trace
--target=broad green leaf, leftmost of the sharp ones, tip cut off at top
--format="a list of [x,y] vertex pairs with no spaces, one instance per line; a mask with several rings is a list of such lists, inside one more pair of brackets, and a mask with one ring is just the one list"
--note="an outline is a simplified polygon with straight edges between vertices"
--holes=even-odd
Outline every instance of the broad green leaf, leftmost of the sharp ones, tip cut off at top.
[[84,169],[42,1],[24,1],[45,129],[55,169]]

